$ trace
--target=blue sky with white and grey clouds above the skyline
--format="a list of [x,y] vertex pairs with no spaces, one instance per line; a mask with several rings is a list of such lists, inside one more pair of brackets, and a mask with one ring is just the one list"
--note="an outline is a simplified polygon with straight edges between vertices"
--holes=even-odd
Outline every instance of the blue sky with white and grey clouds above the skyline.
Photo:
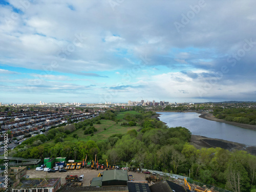
[[0,0],[0,102],[255,101],[255,7]]

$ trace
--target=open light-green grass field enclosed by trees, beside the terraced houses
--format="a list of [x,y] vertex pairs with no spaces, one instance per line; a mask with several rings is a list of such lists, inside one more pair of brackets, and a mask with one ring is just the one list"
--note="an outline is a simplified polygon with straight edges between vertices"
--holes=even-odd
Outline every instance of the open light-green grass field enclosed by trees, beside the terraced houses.
[[[131,114],[139,114],[138,112],[135,111],[129,111],[129,112],[120,112],[117,114],[116,119],[123,119],[124,115],[126,113],[131,113]],[[101,124],[94,124],[93,126],[98,130],[97,132],[94,132],[93,136],[91,134],[89,135],[84,135],[83,132],[84,130],[79,129],[68,135],[67,138],[65,138],[65,141],[70,141],[70,142],[77,142],[77,141],[89,141],[89,140],[94,140],[94,141],[99,141],[99,140],[104,140],[110,137],[111,135],[114,134],[125,134],[130,130],[138,130],[140,127],[139,126],[121,126],[121,122],[115,122],[112,120],[100,120]],[[89,127],[89,126],[87,126]],[[104,130],[105,129],[105,130]],[[75,139],[73,134],[78,135],[78,139]]]

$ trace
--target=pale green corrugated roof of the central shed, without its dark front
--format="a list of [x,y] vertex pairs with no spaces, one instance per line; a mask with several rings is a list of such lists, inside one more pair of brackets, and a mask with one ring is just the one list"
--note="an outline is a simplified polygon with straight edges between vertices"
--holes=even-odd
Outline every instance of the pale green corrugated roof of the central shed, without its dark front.
[[105,170],[103,172],[102,181],[109,180],[129,181],[127,170]]

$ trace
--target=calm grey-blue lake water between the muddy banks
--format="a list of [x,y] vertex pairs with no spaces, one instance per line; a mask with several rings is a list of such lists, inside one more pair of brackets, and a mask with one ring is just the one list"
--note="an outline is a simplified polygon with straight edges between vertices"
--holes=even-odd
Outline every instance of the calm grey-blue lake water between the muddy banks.
[[159,119],[169,127],[186,127],[193,135],[256,146],[256,131],[200,118],[198,113],[159,112]]

